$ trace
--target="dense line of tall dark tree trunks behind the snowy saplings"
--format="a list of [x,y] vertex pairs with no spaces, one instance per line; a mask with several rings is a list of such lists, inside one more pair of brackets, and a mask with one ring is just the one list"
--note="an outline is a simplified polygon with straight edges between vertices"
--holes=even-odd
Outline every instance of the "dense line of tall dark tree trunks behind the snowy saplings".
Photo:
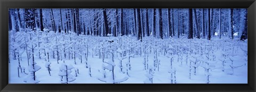
[[247,9],[9,9],[9,30],[247,39]]

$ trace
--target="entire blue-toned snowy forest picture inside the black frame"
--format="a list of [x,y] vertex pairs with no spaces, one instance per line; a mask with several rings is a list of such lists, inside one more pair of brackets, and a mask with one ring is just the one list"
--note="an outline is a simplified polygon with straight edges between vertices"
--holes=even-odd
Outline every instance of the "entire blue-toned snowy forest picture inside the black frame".
[[247,83],[247,9],[9,9],[9,83]]

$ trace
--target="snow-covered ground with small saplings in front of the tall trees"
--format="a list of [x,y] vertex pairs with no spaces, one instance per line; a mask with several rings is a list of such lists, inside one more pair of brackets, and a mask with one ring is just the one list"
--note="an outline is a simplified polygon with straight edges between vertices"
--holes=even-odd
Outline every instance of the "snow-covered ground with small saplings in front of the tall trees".
[[[33,54],[35,65],[41,67],[35,72],[38,83],[64,81],[60,76],[64,62],[74,67],[66,72],[75,79],[68,83],[247,83],[246,40],[144,37],[140,42],[133,36],[52,32],[11,32],[9,37],[9,83],[31,83],[24,81],[31,77],[28,58],[31,65]],[[36,46],[34,53],[31,46]]]

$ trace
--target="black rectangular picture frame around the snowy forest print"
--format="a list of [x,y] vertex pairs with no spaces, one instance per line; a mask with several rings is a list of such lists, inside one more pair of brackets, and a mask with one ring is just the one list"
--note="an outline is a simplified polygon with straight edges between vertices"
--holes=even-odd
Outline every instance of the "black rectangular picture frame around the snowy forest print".
[[[255,0],[0,0],[0,91],[255,91]],[[9,84],[9,8],[247,8],[247,84]]]

